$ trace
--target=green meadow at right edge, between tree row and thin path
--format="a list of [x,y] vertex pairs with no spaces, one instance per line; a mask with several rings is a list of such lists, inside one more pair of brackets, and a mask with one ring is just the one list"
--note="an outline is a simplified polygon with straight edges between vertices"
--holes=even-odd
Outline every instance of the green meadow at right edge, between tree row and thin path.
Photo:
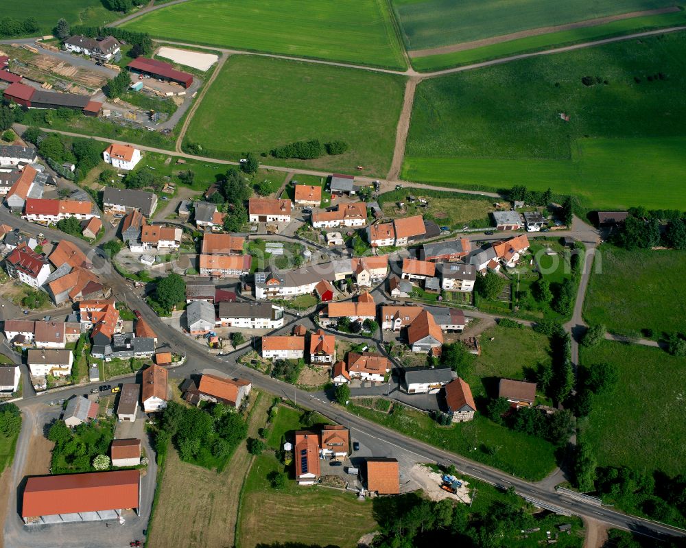
[[627,251],[608,244],[595,254],[584,320],[611,331],[686,333],[686,252]]

